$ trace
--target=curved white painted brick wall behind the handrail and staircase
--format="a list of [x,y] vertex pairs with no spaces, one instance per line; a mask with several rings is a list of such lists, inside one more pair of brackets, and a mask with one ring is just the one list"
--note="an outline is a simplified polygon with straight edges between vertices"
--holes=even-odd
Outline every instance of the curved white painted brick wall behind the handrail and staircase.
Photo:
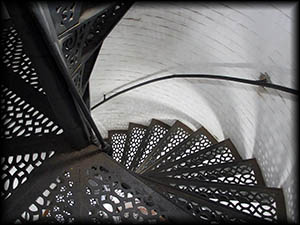
[[[92,105],[115,88],[174,73],[211,73],[296,87],[293,5],[138,2],[105,40],[91,80]],[[206,127],[255,157],[266,183],[284,188],[296,215],[295,104],[273,90],[216,80],[169,80],[117,97],[93,111],[103,134],[151,118]]]

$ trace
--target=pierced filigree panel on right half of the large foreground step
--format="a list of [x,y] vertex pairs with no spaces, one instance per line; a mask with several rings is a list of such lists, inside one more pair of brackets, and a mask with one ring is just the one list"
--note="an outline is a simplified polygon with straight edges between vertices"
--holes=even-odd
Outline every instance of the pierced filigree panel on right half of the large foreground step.
[[120,182],[103,166],[87,171],[88,215],[93,222],[155,223],[166,221],[151,196],[144,196],[129,183]]

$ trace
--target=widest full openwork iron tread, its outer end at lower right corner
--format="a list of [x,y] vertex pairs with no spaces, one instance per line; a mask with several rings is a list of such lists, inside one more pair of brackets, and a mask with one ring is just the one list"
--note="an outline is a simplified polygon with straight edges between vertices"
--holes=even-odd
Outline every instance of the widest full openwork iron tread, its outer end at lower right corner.
[[[141,175],[143,177],[143,175]],[[286,221],[286,209],[282,189],[260,186],[220,184],[194,179],[147,177],[178,190],[195,193],[210,201],[270,222]]]

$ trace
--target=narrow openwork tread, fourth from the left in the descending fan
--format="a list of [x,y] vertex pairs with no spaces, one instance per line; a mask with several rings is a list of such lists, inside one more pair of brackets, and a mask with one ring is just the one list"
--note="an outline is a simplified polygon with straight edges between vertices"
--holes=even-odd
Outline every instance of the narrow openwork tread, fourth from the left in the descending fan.
[[153,149],[144,162],[136,169],[136,172],[142,173],[149,165],[171,151],[174,147],[187,139],[192,133],[193,130],[191,128],[177,120],[165,137],[160,140],[155,149]]

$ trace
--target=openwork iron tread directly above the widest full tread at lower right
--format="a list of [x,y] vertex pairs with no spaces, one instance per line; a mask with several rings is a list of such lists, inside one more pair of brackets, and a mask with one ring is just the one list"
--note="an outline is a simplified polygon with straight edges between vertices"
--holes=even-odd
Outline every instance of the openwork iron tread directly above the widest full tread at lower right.
[[[150,175],[148,175],[150,176]],[[153,177],[164,179],[165,177],[182,178],[189,180],[218,182],[225,184],[260,185],[265,186],[261,170],[256,159],[247,159],[238,162],[224,163],[221,165],[206,166],[200,168],[186,168],[162,173],[153,173]]]

